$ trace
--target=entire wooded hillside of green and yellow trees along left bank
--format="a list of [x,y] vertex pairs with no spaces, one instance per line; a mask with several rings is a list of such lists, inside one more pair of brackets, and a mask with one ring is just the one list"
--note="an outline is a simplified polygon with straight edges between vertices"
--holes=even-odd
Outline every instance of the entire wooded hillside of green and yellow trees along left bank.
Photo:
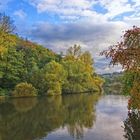
[[0,14],[0,98],[100,92],[103,79],[80,45],[59,55],[14,34],[10,17]]

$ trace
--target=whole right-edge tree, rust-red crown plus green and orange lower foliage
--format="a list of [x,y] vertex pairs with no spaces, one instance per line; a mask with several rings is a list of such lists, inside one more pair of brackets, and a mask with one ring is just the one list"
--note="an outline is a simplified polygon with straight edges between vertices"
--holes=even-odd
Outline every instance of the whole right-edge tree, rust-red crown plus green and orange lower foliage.
[[[140,28],[125,31],[122,40],[101,53],[111,58],[110,64],[124,69],[123,92],[130,95],[129,108],[139,108],[140,102]],[[137,105],[137,106],[136,106]]]

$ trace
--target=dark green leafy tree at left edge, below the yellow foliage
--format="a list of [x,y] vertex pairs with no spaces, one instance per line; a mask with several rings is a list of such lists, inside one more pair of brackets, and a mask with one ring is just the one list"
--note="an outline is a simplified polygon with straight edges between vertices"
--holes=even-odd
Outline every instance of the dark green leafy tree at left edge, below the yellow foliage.
[[23,57],[21,51],[17,51],[15,47],[10,47],[0,59],[0,85],[2,88],[13,88],[17,83],[24,81],[26,68]]

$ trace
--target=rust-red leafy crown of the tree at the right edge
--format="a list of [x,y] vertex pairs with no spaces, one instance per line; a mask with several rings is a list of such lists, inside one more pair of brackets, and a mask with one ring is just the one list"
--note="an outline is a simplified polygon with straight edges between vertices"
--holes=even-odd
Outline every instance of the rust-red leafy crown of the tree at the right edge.
[[140,71],[140,28],[125,31],[122,41],[101,54],[111,58],[110,64],[121,64],[126,71]]

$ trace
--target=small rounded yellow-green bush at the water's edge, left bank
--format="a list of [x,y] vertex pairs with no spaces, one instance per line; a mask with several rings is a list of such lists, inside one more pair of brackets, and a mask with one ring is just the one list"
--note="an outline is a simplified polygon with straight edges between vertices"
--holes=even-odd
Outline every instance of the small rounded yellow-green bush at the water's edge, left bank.
[[37,96],[37,90],[28,83],[19,83],[16,85],[15,90],[12,93],[14,97],[31,97]]

